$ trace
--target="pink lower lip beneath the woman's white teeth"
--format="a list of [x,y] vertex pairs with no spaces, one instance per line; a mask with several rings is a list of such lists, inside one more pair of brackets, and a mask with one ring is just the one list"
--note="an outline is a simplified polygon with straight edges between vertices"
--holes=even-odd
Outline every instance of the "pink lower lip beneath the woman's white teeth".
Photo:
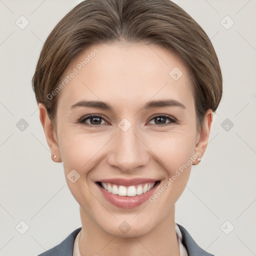
[[99,184],[96,184],[96,185],[99,187],[103,196],[110,203],[112,203],[113,205],[120,207],[120,208],[129,209],[129,208],[137,207],[137,206],[141,205],[142,203],[144,203],[154,193],[155,189],[159,185],[159,182],[156,185],[154,185],[147,192],[138,194],[138,195],[134,195],[134,196],[120,196],[118,194],[112,194],[112,193],[108,192],[106,189],[104,189],[103,187],[101,187]]

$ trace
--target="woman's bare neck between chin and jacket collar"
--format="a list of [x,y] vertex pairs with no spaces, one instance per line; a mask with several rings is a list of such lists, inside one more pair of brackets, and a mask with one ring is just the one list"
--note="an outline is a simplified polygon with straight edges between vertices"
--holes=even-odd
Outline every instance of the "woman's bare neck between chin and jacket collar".
[[[81,256],[179,256],[174,221],[175,206],[166,217],[146,233],[117,236],[99,227],[89,214],[80,207],[81,235],[79,251]],[[122,221],[120,221],[121,223]]]

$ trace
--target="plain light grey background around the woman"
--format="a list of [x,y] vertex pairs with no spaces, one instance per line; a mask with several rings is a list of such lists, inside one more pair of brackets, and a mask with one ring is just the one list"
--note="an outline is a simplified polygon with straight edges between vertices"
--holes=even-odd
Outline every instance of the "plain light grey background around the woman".
[[[81,226],[62,163],[50,158],[30,83],[47,35],[78,2],[0,0],[0,255],[37,255]],[[213,254],[256,255],[256,1],[174,2],[211,38],[223,73],[208,147],[175,219]],[[24,29],[15,24],[21,15],[29,21]],[[24,234],[20,221],[29,226]]]

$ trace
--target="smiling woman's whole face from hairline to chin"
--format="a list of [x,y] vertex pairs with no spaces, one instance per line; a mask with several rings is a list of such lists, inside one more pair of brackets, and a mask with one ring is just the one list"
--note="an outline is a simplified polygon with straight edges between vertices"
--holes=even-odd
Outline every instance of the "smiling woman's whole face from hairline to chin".
[[[201,133],[196,131],[188,75],[177,55],[146,44],[91,46],[68,64],[52,131],[57,143],[49,145],[63,162],[84,221],[131,236],[173,217],[212,120],[210,110]],[[102,180],[113,193],[100,186]],[[127,191],[129,196],[119,195]]]

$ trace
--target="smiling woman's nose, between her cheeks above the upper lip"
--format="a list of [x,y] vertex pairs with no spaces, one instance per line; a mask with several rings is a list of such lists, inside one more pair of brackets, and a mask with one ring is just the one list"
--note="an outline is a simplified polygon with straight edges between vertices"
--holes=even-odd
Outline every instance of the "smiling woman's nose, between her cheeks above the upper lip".
[[144,143],[141,133],[135,129],[135,125],[131,125],[126,131],[117,127],[110,147],[107,154],[108,164],[123,172],[131,172],[138,167],[146,166],[150,159],[150,150]]

